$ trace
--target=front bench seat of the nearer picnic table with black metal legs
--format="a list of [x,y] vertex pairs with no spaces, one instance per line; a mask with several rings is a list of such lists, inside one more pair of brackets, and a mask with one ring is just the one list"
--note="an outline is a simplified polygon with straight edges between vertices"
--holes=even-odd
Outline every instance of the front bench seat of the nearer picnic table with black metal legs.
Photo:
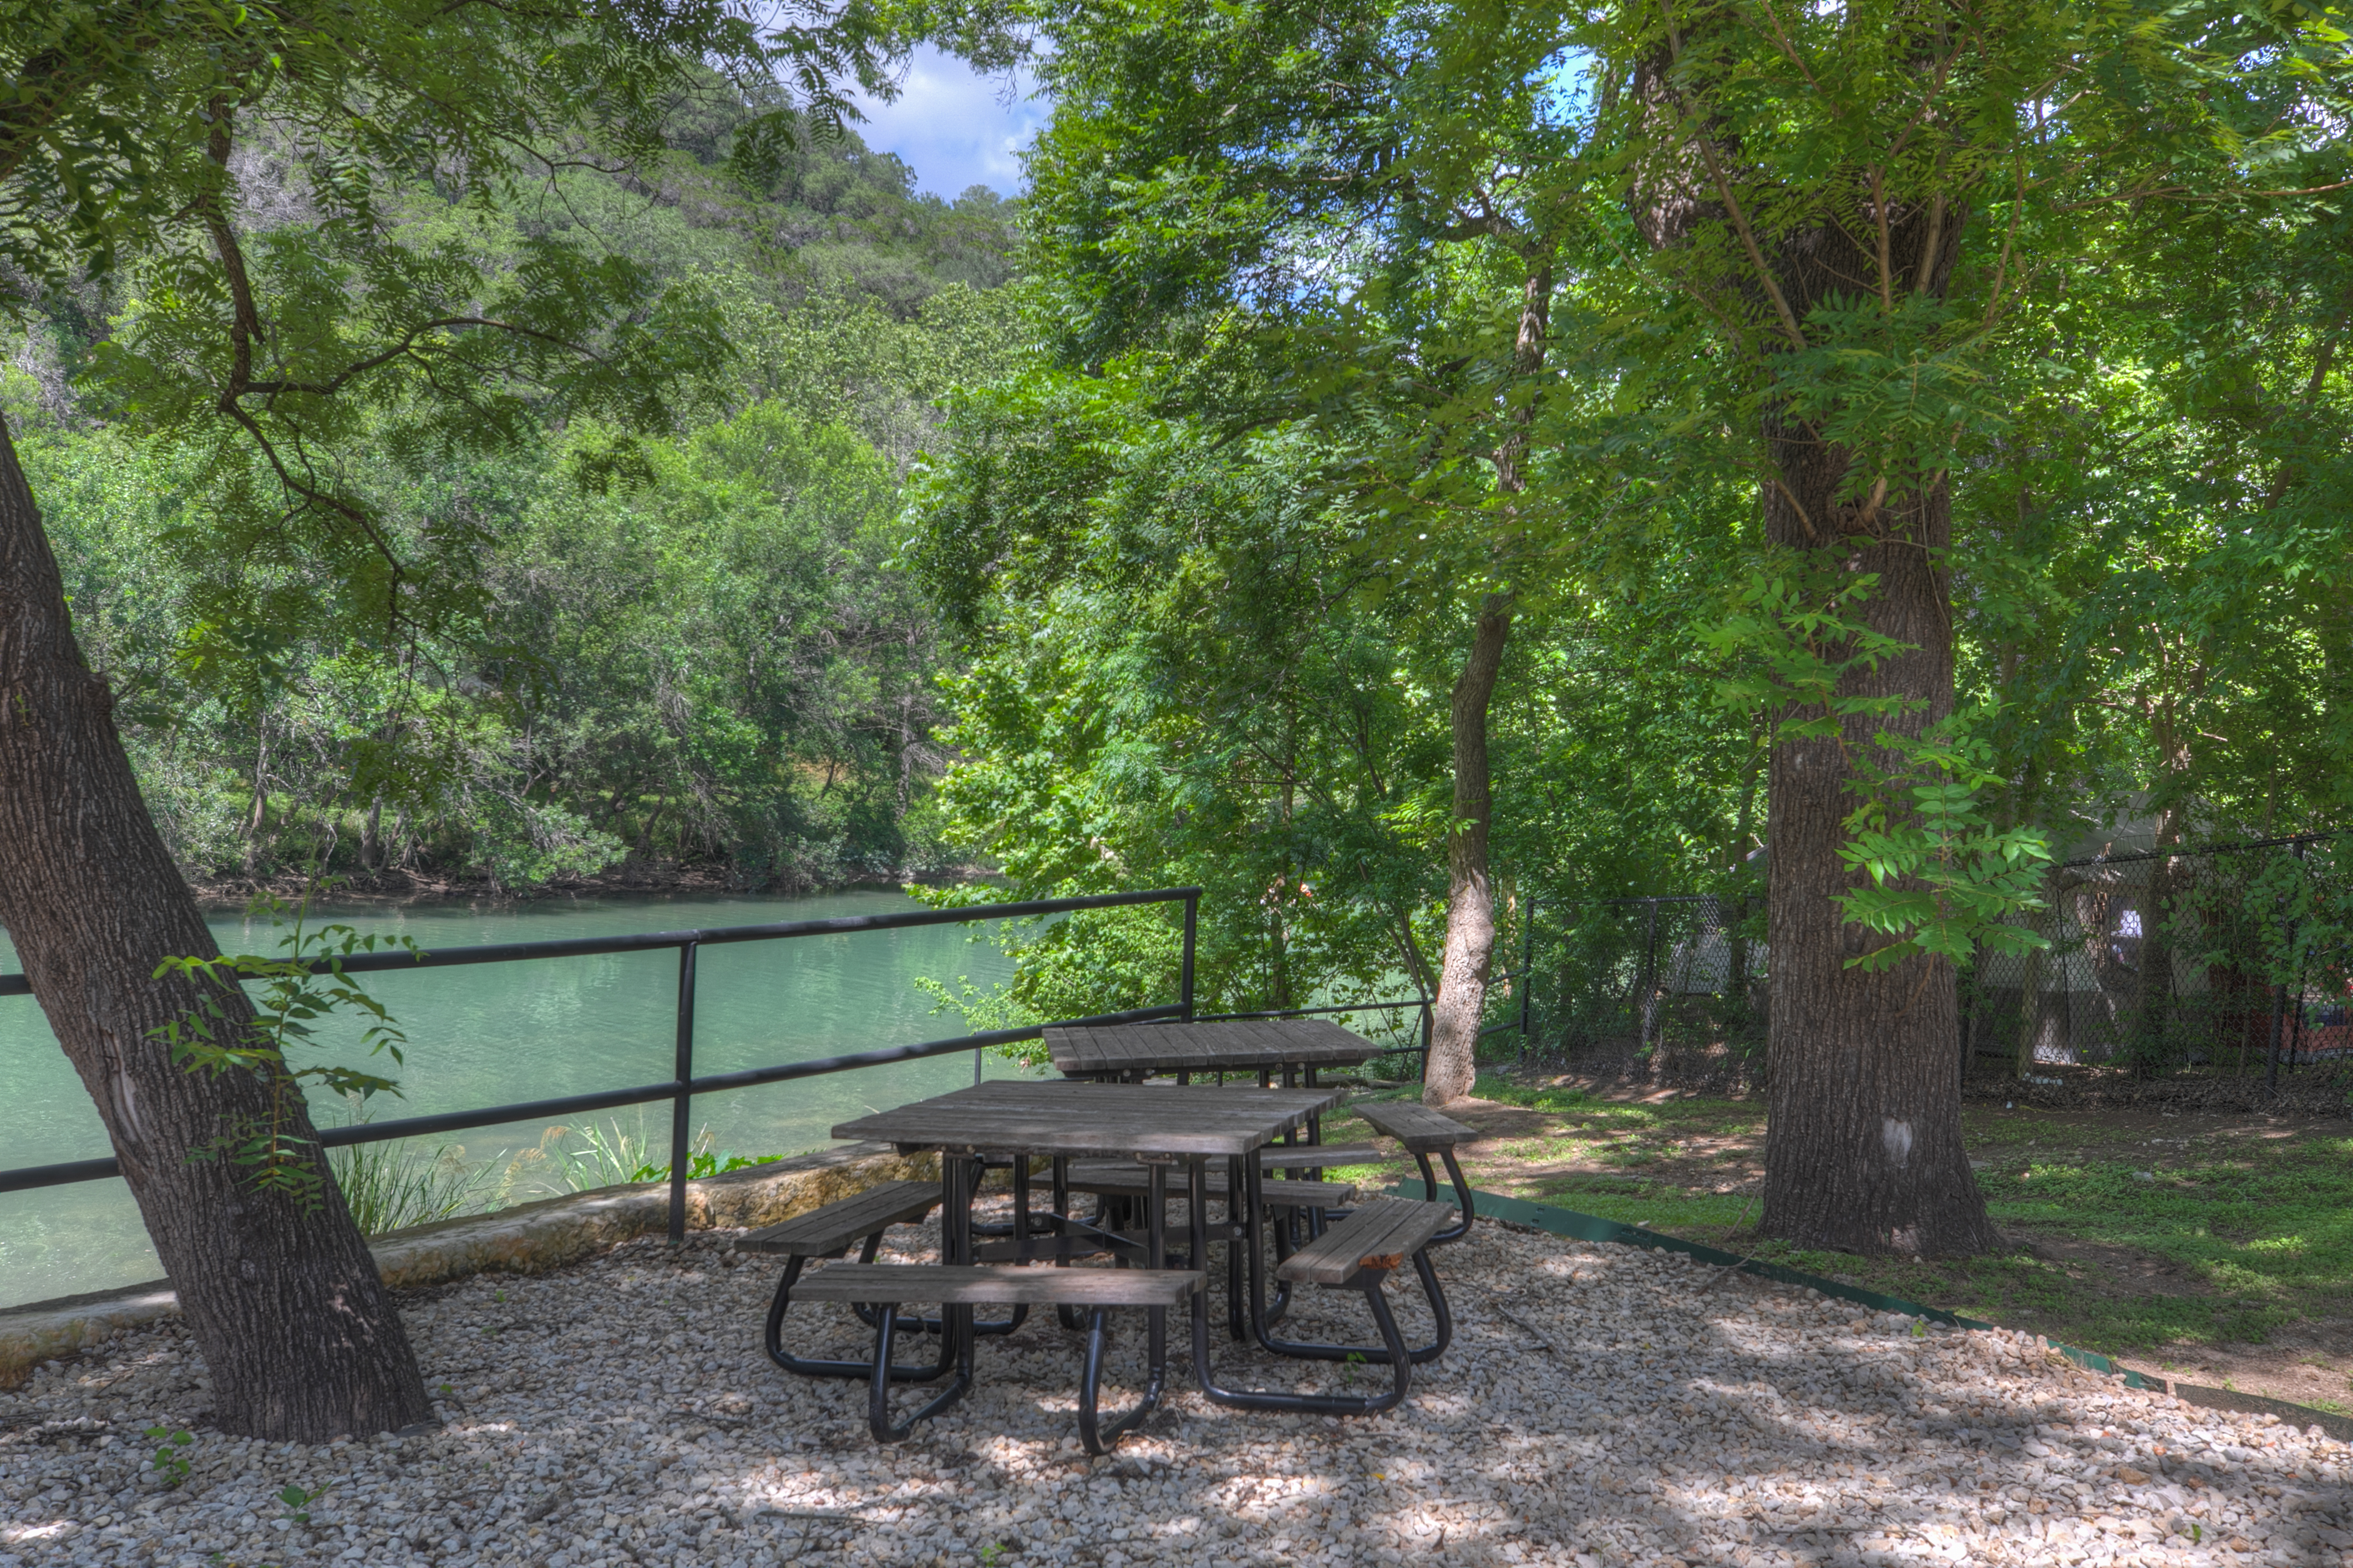
[[[1186,1307],[1200,1293],[1202,1281],[1200,1269],[835,1262],[802,1279],[800,1295],[873,1307],[875,1359],[866,1394],[866,1425],[878,1443],[896,1443],[915,1429],[915,1422],[939,1415],[972,1387],[972,1335],[962,1333],[955,1356],[955,1382],[904,1422],[892,1420],[889,1359],[901,1302],[939,1302],[944,1309],[984,1302],[1087,1307],[1087,1361],[1080,1368],[1078,1382],[1078,1441],[1085,1443],[1087,1453],[1111,1453],[1120,1436],[1160,1406],[1160,1394],[1167,1387],[1167,1309]],[[1106,1422],[1101,1418],[1099,1392],[1104,1382],[1104,1347],[1111,1338],[1106,1321],[1111,1307],[1151,1309],[1151,1361],[1144,1396],[1125,1415]]]

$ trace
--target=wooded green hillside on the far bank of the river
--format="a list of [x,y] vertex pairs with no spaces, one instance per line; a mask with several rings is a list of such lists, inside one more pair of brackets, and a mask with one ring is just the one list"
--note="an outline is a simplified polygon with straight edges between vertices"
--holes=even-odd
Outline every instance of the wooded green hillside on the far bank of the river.
[[[409,202],[414,244],[464,228],[501,275],[548,235],[607,247],[647,289],[692,289],[729,353],[680,369],[671,435],[584,416],[454,451],[362,421],[339,484],[442,578],[393,637],[334,559],[219,501],[266,487],[249,449],[125,418],[111,355],[139,341],[136,294],[49,296],[7,411],[193,877],[529,889],[635,856],[812,886],[939,858],[941,654],[892,569],[896,491],[934,400],[1019,343],[1009,212],[918,197],[854,134],[746,190],[711,115],[626,174],[565,174],[536,219]],[[238,200],[264,252],[318,216],[261,158]]]

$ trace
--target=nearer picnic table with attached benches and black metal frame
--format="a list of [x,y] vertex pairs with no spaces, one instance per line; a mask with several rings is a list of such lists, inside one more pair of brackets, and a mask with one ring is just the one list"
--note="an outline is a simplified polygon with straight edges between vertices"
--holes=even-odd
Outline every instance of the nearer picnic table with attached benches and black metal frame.
[[[786,1281],[779,1286],[776,1305],[769,1312],[769,1354],[791,1371],[868,1378],[868,1418],[873,1432],[882,1441],[894,1441],[906,1436],[918,1420],[953,1403],[969,1387],[976,1342],[974,1302],[1056,1305],[1064,1312],[1064,1326],[1073,1328],[1080,1326],[1073,1312],[1085,1307],[1092,1316],[1085,1321],[1089,1338],[1080,1389],[1080,1436],[1089,1450],[1104,1453],[1118,1441],[1120,1432],[1134,1427],[1158,1403],[1167,1371],[1167,1309],[1172,1305],[1188,1305],[1193,1375],[1202,1394],[1212,1401],[1252,1410],[1301,1410],[1318,1415],[1386,1410],[1405,1399],[1409,1368],[1445,1349],[1449,1319],[1445,1295],[1426,1258],[1426,1246],[1452,1218],[1452,1211],[1440,1204],[1377,1199],[1299,1248],[1289,1246],[1289,1234],[1282,1225],[1268,1227],[1261,1152],[1285,1133],[1301,1128],[1311,1117],[1332,1110],[1339,1100],[1339,1088],[1209,1088],[1000,1079],[842,1121],[833,1128],[835,1138],[889,1143],[908,1154],[939,1154],[939,1265],[875,1265],[873,1239],[868,1239],[859,1265],[828,1265],[802,1276],[798,1267],[800,1253],[795,1253]],[[1052,1208],[1047,1213],[1035,1213],[1031,1206],[1031,1161],[1040,1157],[1052,1161]],[[1127,1225],[1101,1222],[1101,1213],[1096,1220],[1082,1220],[1071,1213],[1071,1161],[1080,1157],[1111,1157],[1141,1164],[1144,1182],[1136,1194],[1141,1234]],[[972,1218],[984,1159],[1005,1159],[1012,1166],[1014,1222],[1009,1239],[995,1244],[976,1239]],[[1209,1161],[1226,1164],[1224,1194],[1212,1194]],[[1172,1192],[1186,1197],[1181,1253],[1172,1248],[1169,1237]],[[1217,1197],[1224,1197],[1224,1213],[1212,1222],[1209,1211]],[[856,1199],[828,1208],[845,1208],[849,1204],[856,1204]],[[906,1204],[896,1199],[894,1204],[894,1213],[904,1213]],[[889,1206],[885,1204],[882,1208]],[[805,1251],[807,1246],[824,1244],[833,1248],[826,1255],[838,1258],[849,1241],[847,1229],[840,1225],[833,1227],[838,1234],[828,1232],[819,1237],[816,1229],[807,1229],[809,1220],[788,1220],[784,1227],[772,1229],[791,1232],[795,1225],[805,1227],[805,1241],[800,1244]],[[809,1237],[816,1239],[809,1241]],[[1306,1345],[1275,1338],[1271,1324],[1280,1312],[1271,1312],[1266,1295],[1264,1253],[1268,1237],[1273,1237],[1278,1248],[1275,1274],[1282,1279],[1285,1291],[1289,1284],[1360,1291],[1372,1309],[1381,1342]],[[1214,1244],[1228,1248],[1228,1300],[1235,1309],[1235,1338],[1254,1338],[1275,1354],[1393,1366],[1395,1389],[1381,1394],[1292,1394],[1219,1385],[1209,1356],[1209,1307],[1200,1288]],[[1120,1267],[1071,1267],[1080,1258],[1101,1255],[1111,1255]],[[1033,1262],[1052,1267],[988,1267]],[[1381,1298],[1388,1272],[1407,1262],[1412,1262],[1431,1298],[1438,1321],[1433,1345],[1407,1347]],[[1162,1288],[1167,1284],[1176,1284],[1176,1288]],[[779,1354],[776,1333],[788,1295],[847,1300],[859,1305],[861,1314],[871,1307],[871,1321],[875,1324],[873,1361],[795,1363],[791,1356]],[[896,1300],[941,1305],[936,1321],[915,1321],[941,1335],[936,1366],[894,1368],[892,1338],[915,1326],[896,1319]],[[1127,1415],[1104,1425],[1094,1408],[1094,1387],[1106,1342],[1104,1314],[1111,1305],[1146,1309],[1151,1380]],[[889,1418],[887,1394],[894,1380],[936,1380],[951,1366],[955,1368],[955,1378],[946,1392],[906,1422]]]

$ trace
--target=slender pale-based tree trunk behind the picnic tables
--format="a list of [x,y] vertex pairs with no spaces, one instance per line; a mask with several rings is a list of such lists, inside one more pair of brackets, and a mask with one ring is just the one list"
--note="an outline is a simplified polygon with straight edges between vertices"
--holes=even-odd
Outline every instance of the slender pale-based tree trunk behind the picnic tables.
[[1431,1009],[1431,1063],[1421,1098],[1449,1105],[1478,1079],[1478,1025],[1494,969],[1494,884],[1487,877],[1487,705],[1504,670],[1511,597],[1487,595],[1471,632],[1471,656],[1454,679],[1454,832],[1447,837],[1447,952]]

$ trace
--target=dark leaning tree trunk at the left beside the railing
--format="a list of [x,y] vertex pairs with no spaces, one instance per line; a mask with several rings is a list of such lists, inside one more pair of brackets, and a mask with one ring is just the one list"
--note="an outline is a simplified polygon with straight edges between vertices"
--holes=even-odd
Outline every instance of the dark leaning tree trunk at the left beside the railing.
[[[198,1157],[264,1119],[247,1072],[176,1067],[153,1030],[188,1018],[198,985],[155,978],[174,954],[214,957],[195,900],[148,818],[113,726],[113,693],[82,665],[56,557],[0,423],[0,922],[106,1133],[228,1432],[315,1443],[431,1420],[416,1356],[334,1178],[299,1204]],[[219,997],[228,1020],[249,1009]],[[299,1098],[289,1131],[311,1138]]]

